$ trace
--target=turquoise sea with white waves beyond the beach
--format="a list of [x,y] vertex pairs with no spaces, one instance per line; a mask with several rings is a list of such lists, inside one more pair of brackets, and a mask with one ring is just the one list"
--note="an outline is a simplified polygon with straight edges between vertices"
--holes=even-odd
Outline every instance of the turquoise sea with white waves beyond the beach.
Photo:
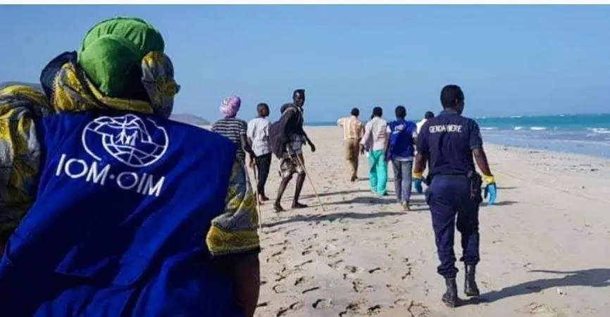
[[480,126],[484,142],[610,159],[610,113],[474,119]]

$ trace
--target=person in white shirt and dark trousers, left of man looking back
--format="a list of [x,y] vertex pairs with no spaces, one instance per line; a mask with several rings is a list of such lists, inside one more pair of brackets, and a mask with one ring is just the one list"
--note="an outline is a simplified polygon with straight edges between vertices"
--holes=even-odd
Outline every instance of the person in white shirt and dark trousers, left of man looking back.
[[[256,165],[258,180],[256,182],[256,192],[259,201],[268,201],[265,194],[265,184],[269,176],[271,166],[271,145],[269,144],[269,106],[259,104],[256,106],[258,116],[248,123],[248,139],[254,151],[254,161],[250,160],[250,167]],[[256,164],[255,164],[256,161]]]

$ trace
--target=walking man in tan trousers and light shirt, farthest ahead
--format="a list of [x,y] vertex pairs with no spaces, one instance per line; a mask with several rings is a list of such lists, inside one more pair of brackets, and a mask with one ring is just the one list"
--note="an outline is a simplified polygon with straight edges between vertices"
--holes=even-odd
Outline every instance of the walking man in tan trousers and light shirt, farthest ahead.
[[351,116],[340,118],[337,125],[343,128],[343,140],[345,142],[345,157],[349,164],[350,181],[358,180],[358,156],[360,152],[360,140],[364,133],[364,125],[361,120],[359,108],[351,109]]

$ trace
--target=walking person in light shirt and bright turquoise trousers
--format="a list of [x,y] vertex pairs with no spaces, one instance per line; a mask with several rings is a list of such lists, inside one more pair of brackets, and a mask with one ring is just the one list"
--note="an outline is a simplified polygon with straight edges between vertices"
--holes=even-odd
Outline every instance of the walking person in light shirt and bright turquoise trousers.
[[368,149],[368,177],[371,190],[380,196],[387,195],[387,163],[385,145],[387,142],[387,121],[381,118],[381,107],[373,108],[373,118],[366,123],[361,146]]

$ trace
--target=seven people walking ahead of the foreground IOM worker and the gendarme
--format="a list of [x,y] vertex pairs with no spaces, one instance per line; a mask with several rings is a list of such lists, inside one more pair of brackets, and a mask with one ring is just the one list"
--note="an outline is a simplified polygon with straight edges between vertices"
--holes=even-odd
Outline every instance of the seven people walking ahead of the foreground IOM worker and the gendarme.
[[[237,159],[255,170],[256,194],[259,204],[270,199],[266,195],[266,182],[270,173],[273,157],[271,139],[275,137],[278,142],[282,137],[285,148],[280,148],[280,188],[273,207],[275,211],[284,211],[280,204],[283,193],[297,174],[292,209],[306,207],[299,202],[301,190],[305,180],[305,167],[302,146],[313,145],[303,130],[304,89],[297,89],[293,93],[293,102],[285,104],[280,109],[281,117],[275,126],[275,135],[270,134],[272,122],[269,120],[269,106],[261,103],[256,106],[256,118],[246,122],[237,118],[241,107],[241,99],[237,96],[226,97],[220,105],[223,118],[213,123],[211,130],[228,137],[237,144]],[[397,201],[405,211],[410,210],[411,182],[413,170],[413,157],[415,142],[423,123],[434,118],[431,111],[427,111],[418,123],[406,120],[406,108],[397,106],[394,109],[395,120],[388,122],[383,117],[381,107],[373,108],[371,120],[366,125],[359,119],[359,108],[352,108],[349,117],[337,120],[337,125],[343,128],[345,155],[348,161],[350,181],[358,180],[359,156],[366,154],[369,163],[369,182],[371,191],[379,196],[387,196],[387,166],[391,165],[394,172],[394,186]],[[280,142],[281,143],[281,142]],[[246,155],[249,157],[248,162]],[[423,191],[421,181],[416,180],[416,190]]]

